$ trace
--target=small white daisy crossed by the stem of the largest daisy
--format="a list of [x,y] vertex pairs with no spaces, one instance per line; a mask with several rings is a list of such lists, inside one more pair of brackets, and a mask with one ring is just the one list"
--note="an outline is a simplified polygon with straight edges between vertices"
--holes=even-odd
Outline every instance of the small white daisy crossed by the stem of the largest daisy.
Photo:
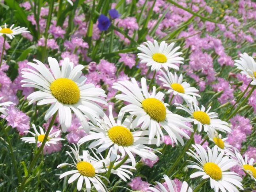
[[[40,144],[43,142],[43,139],[45,138],[45,132],[43,131],[43,128],[39,126],[40,129],[40,133],[37,131],[37,128],[35,127],[35,124],[32,124],[32,127],[35,131],[35,133],[31,132],[31,131],[24,131],[24,133],[30,133],[31,135],[33,135],[33,137],[22,137],[20,138],[22,141],[24,141],[25,143],[35,143],[36,142],[36,137],[37,137],[37,144]],[[61,140],[65,140],[62,138],[57,138],[60,135],[60,130],[56,131],[54,133],[51,133],[51,131],[53,130],[53,128],[51,128],[50,132],[49,132],[49,136],[46,140],[45,145],[46,146],[50,146],[51,144],[55,145],[57,144],[58,141]]]

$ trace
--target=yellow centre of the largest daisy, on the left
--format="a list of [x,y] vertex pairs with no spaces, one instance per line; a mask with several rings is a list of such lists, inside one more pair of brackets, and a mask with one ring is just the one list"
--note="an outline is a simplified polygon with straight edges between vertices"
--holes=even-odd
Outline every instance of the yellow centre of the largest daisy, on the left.
[[51,94],[63,104],[76,104],[80,99],[77,84],[68,78],[58,78],[50,85]]

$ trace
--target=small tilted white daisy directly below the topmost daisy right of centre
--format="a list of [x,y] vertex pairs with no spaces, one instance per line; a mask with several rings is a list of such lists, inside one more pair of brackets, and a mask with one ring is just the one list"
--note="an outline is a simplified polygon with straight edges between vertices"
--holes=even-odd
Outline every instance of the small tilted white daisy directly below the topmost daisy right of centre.
[[201,97],[197,93],[199,92],[198,89],[195,87],[190,87],[190,84],[186,81],[182,82],[183,76],[180,74],[178,77],[176,73],[174,75],[167,71],[167,74],[161,70],[163,76],[158,75],[159,80],[164,82],[164,87],[168,88],[168,93],[172,93],[173,95],[180,95],[182,97],[188,98],[191,96]]

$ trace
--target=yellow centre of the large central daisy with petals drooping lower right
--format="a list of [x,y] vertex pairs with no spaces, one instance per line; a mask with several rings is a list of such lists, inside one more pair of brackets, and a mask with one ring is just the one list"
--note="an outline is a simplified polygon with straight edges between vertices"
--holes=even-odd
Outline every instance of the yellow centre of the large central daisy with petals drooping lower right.
[[166,108],[164,104],[156,98],[147,98],[142,101],[142,108],[151,119],[161,122],[165,120]]

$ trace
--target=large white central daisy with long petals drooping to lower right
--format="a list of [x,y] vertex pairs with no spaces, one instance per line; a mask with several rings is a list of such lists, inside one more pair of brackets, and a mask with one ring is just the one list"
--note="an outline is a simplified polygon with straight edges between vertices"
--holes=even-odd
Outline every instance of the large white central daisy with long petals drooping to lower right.
[[129,112],[136,118],[132,123],[132,127],[141,124],[141,129],[149,128],[149,139],[153,139],[156,135],[157,145],[160,144],[160,138],[164,140],[164,134],[161,127],[168,133],[172,142],[178,141],[183,145],[183,137],[190,137],[182,131],[182,128],[193,131],[184,123],[186,121],[180,115],[173,114],[167,109],[169,106],[163,102],[164,93],[156,93],[156,87],[153,87],[152,93],[148,92],[146,79],[141,78],[141,88],[138,86],[135,78],[131,81],[115,82],[112,88],[121,91],[123,94],[116,95],[116,99],[127,101],[131,104],[121,108],[122,112]]

